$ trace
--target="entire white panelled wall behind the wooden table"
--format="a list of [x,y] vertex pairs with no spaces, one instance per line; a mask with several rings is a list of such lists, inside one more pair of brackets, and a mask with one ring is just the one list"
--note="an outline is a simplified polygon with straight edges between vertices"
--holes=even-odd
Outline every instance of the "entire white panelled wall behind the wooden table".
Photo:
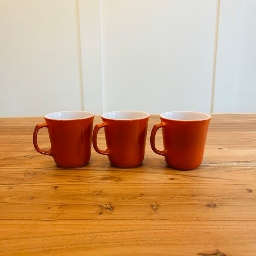
[[256,112],[255,0],[0,0],[0,116]]

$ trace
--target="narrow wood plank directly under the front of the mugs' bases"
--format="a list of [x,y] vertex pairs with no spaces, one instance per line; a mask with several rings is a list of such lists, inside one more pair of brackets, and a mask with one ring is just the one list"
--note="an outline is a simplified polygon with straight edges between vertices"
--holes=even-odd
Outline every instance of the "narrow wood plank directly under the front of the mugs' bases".
[[[49,160],[49,168],[2,168],[1,185],[79,185],[79,184],[251,184],[256,185],[254,165],[239,166],[235,163],[203,164],[193,171],[179,171],[166,166],[162,159],[155,166],[143,166],[133,169],[118,169],[110,166],[107,160],[97,160],[101,166],[88,165],[79,169],[61,169]],[[96,160],[95,160],[96,161]],[[153,169],[154,168],[154,169]],[[241,175],[242,174],[242,175]]]

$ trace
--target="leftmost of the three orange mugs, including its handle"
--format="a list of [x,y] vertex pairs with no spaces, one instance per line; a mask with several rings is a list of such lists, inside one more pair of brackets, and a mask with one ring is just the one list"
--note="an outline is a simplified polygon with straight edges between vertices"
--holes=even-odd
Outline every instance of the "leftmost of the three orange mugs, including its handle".
[[[94,113],[86,111],[62,111],[44,116],[45,123],[35,126],[33,143],[35,150],[52,156],[55,163],[64,168],[87,164],[91,154],[91,140]],[[39,129],[46,127],[51,148],[48,151],[38,147]]]

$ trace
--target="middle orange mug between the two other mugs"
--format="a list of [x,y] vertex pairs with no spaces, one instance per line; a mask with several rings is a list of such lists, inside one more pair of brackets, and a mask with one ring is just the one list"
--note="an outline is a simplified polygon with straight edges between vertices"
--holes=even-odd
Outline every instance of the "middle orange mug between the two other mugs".
[[[129,168],[139,166],[144,159],[149,114],[141,111],[113,111],[102,115],[103,123],[93,130],[93,147],[107,155],[113,166]],[[107,149],[97,145],[99,129],[104,128]]]

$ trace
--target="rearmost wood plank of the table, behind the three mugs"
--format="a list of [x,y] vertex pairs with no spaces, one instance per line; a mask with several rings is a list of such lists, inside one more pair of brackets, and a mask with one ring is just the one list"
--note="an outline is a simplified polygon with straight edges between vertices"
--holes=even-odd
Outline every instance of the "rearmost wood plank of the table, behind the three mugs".
[[[216,126],[216,122],[214,118],[218,119],[220,125]],[[207,144],[205,148],[204,154],[204,164],[216,164],[216,163],[239,163],[239,164],[251,164],[256,161],[256,115],[248,114],[244,116],[253,116],[250,119],[244,119],[244,122],[250,123],[250,125],[242,125],[238,128],[234,129],[233,124],[236,122],[236,119],[240,117],[244,118],[243,115],[227,115],[232,116],[234,118],[234,122],[227,122],[223,115],[213,115],[213,120],[210,123],[210,128],[212,127],[212,131],[209,129],[209,134],[207,137]],[[219,118],[218,118],[219,117]],[[20,165],[20,159],[27,159],[29,161],[23,161],[24,167],[30,167],[31,165],[35,165],[35,167],[42,167],[42,163],[45,161],[47,163],[45,168],[51,168],[53,163],[50,157],[42,156],[38,154],[32,144],[32,133],[34,129],[34,125],[30,124],[30,126],[21,126],[21,131],[24,131],[24,134],[19,132],[17,127],[12,131],[12,127],[15,125],[10,124],[9,119],[7,120],[7,124],[0,125],[1,135],[0,135],[0,167],[17,167]],[[26,119],[17,118],[17,120],[22,120],[24,122]],[[35,118],[34,123],[42,122],[41,118]],[[40,120],[40,121],[39,121]],[[3,121],[3,120],[2,120]],[[25,121],[26,122],[26,121]],[[30,119],[32,122],[32,119]],[[100,117],[97,116],[95,119],[95,124],[101,122]],[[148,134],[147,134],[147,143],[146,143],[146,154],[145,161],[147,158],[150,160],[146,165],[151,165],[151,160],[163,159],[156,154],[154,154],[150,148],[149,138],[151,133],[151,128],[154,123],[159,122],[157,116],[151,116],[150,123],[148,125]],[[230,125],[230,128],[225,131],[221,128],[222,126]],[[220,132],[217,132],[216,129],[219,129]],[[41,132],[38,136],[38,143],[42,148],[49,148],[49,137],[46,129],[42,129],[44,131]],[[244,131],[245,130],[245,131]],[[250,131],[246,131],[250,130]],[[9,135],[8,135],[9,133]],[[163,147],[163,140],[161,137],[161,133],[157,133],[156,137],[156,145],[158,148]],[[105,147],[105,138],[103,131],[99,133],[99,146],[101,148]],[[21,153],[22,152],[22,153]],[[29,157],[26,157],[29,156]],[[101,159],[104,158],[99,154],[96,154],[94,149],[92,148],[92,160],[90,162],[93,163],[93,159]],[[106,159],[106,157],[105,157]],[[15,161],[17,160],[17,161]],[[49,164],[48,164],[49,163]],[[53,163],[54,164],[54,163]]]

